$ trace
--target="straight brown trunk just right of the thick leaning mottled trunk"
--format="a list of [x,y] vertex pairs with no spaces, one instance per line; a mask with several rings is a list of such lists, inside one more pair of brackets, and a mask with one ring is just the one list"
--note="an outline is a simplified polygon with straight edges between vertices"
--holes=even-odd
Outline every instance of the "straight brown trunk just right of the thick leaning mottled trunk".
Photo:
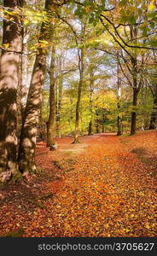
[[49,119],[47,122],[47,147],[53,150],[55,137],[55,48],[52,48],[50,64]]

